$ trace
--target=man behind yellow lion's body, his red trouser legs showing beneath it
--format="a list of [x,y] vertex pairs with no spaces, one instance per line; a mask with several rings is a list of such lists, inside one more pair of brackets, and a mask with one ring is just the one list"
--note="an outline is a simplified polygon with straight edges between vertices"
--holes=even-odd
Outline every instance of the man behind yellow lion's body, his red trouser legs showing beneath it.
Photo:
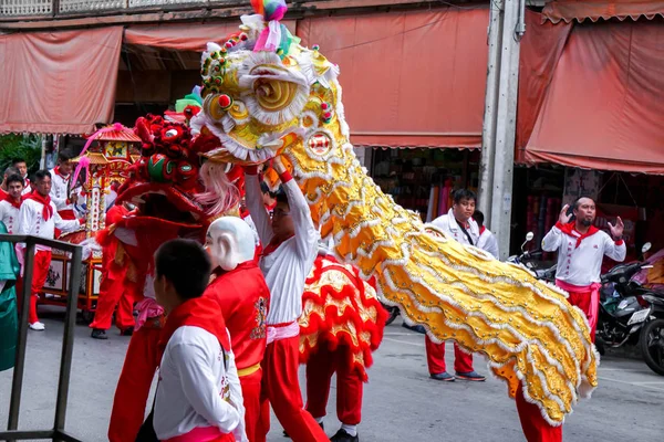
[[[459,189],[454,192],[454,204],[452,209],[442,217],[436,218],[432,224],[452,235],[456,241],[465,245],[477,245],[479,240],[479,228],[473,220],[475,213],[475,192]],[[442,381],[454,381],[455,379],[469,381],[484,381],[486,377],[477,373],[473,368],[473,355],[468,355],[455,344],[454,345],[454,369],[456,376],[447,372],[445,366],[445,343],[436,344],[425,337],[426,360],[432,379]]]

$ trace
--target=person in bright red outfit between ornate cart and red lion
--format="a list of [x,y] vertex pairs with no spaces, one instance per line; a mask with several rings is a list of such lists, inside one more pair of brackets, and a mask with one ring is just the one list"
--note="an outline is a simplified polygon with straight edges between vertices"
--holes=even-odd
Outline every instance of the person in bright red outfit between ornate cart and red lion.
[[[106,212],[106,227],[120,222],[129,214],[131,204],[122,202],[113,206]],[[108,240],[108,243],[102,248],[102,284],[100,288],[100,298],[97,299],[94,320],[90,324],[92,337],[95,339],[107,339],[106,330],[111,328],[111,319],[115,306],[117,314],[115,316],[115,326],[120,328],[122,335],[129,335],[134,330],[134,298],[129,287],[125,286],[125,275],[127,265],[118,265],[117,256],[120,241],[115,238]]]

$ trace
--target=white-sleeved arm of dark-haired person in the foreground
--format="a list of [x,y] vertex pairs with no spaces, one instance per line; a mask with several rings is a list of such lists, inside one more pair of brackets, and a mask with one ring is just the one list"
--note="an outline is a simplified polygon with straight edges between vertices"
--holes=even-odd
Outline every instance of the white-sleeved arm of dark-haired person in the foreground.
[[179,344],[170,351],[183,391],[196,413],[204,417],[210,425],[225,433],[232,433],[240,424],[240,413],[222,399],[205,349],[193,344]]

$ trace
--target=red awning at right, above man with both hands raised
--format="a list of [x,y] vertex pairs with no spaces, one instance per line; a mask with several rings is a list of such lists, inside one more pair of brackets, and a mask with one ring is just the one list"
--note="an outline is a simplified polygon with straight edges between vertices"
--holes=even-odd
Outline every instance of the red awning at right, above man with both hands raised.
[[664,27],[577,24],[532,135],[528,162],[664,173]]

